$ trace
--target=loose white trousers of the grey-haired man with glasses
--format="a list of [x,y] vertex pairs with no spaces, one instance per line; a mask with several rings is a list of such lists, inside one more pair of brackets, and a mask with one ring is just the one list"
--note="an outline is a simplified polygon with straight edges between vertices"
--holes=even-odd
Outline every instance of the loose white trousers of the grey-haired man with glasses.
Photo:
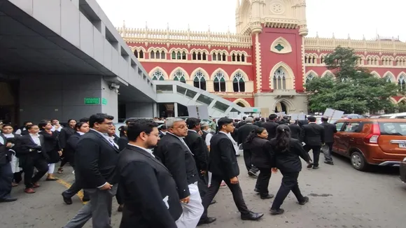
[[182,204],[183,213],[179,220],[176,221],[178,228],[195,228],[199,223],[200,217],[204,212],[202,198],[200,198],[199,188],[197,183],[189,185],[190,202]]

